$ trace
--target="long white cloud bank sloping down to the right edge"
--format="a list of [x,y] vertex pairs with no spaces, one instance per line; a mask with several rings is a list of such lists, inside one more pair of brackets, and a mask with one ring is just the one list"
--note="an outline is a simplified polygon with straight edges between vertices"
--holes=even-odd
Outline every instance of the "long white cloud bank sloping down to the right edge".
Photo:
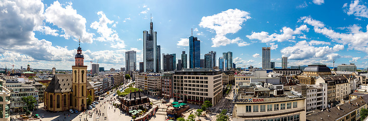
[[337,43],[348,45],[348,49],[354,49],[368,53],[368,33],[360,31],[358,26],[352,26],[353,31],[350,33],[339,33],[332,29],[328,29],[321,21],[312,19],[311,17],[301,17],[300,21],[314,26],[316,33],[323,34]]

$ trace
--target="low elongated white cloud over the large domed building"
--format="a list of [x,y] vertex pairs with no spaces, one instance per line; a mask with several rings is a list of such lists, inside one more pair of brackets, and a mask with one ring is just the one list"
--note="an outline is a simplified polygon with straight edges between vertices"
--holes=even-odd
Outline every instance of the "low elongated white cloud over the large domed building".
[[316,42],[307,42],[305,40],[297,42],[294,46],[288,46],[281,50],[282,56],[289,59],[308,59],[312,57],[325,57],[328,54],[344,49],[344,45],[336,44],[329,46],[313,46]]

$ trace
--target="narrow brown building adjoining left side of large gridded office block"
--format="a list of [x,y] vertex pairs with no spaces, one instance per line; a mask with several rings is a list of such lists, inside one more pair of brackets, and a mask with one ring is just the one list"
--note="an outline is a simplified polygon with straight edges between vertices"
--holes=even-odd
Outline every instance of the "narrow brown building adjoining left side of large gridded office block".
[[161,74],[161,96],[166,99],[173,98],[173,75],[169,72]]

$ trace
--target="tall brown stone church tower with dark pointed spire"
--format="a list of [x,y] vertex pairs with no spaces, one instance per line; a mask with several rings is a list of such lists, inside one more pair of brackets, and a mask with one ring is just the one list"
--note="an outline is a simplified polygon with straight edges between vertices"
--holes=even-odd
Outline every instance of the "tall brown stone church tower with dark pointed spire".
[[79,41],[79,47],[75,56],[75,66],[72,66],[72,103],[74,109],[84,110],[87,107],[87,66],[83,65],[84,56],[80,45]]

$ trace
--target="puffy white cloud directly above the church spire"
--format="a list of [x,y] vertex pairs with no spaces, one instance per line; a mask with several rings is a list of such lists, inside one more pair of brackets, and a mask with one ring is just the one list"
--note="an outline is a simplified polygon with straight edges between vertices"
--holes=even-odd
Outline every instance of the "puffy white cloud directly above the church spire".
[[77,14],[71,5],[65,8],[56,1],[45,10],[46,22],[52,23],[63,29],[65,34],[60,35],[66,39],[74,37],[80,38],[82,42],[92,43],[93,34],[86,31],[86,19]]

